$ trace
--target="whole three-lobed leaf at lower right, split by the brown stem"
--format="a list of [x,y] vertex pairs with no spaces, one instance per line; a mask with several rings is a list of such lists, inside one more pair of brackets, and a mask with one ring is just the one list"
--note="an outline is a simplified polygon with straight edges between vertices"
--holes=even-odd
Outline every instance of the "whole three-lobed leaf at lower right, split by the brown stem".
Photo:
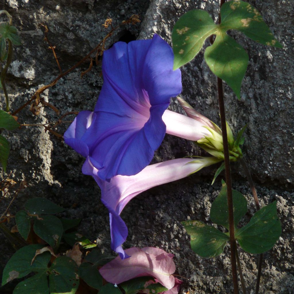
[[[218,197],[213,201],[210,218],[215,224],[229,229],[227,187],[224,184]],[[233,210],[235,238],[241,248],[249,253],[263,253],[270,250],[281,234],[281,224],[277,216],[276,202],[257,211],[249,223],[238,229],[237,225],[247,212],[246,198],[233,190]],[[223,233],[211,225],[197,220],[182,222],[191,236],[192,250],[202,257],[214,257],[223,252],[229,233]]]

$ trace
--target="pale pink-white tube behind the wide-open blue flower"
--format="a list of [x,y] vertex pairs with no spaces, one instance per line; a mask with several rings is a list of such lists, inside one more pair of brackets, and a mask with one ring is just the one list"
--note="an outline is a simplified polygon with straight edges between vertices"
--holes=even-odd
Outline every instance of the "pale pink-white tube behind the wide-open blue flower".
[[194,118],[166,110],[162,116],[166,124],[166,133],[178,136],[187,140],[198,141],[211,133],[203,126],[210,126],[204,121],[198,121]]

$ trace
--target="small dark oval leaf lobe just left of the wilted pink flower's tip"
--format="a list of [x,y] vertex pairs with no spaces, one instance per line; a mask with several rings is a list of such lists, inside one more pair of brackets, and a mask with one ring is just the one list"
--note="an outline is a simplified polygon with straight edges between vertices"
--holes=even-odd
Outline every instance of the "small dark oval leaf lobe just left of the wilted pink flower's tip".
[[100,290],[103,285],[102,276],[96,265],[91,265],[88,262],[82,263],[78,268],[78,275],[92,288]]

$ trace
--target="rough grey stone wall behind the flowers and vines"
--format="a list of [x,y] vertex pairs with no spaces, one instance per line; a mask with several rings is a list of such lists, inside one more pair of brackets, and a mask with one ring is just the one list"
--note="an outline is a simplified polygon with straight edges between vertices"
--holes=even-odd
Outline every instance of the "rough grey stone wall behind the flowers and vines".
[[[248,70],[241,89],[241,101],[225,86],[227,120],[236,132],[248,123],[243,151],[257,182],[261,204],[278,201],[278,213],[283,233],[273,250],[265,254],[260,293],[292,294],[294,289],[294,193],[292,171],[294,153],[293,119],[293,16],[294,2],[256,0],[248,1],[263,15],[284,48],[275,49],[255,44],[233,32],[250,57]],[[142,23],[119,29],[106,43],[109,47],[119,39],[149,38],[157,33],[171,41],[175,21],[189,9],[206,9],[213,18],[218,16],[218,1],[163,1],[163,0],[0,0],[0,9],[7,9],[19,29],[22,46],[15,48],[14,59],[7,77],[11,109],[16,110],[42,85],[51,82],[58,74],[52,52],[44,41],[40,23],[49,28],[48,37],[56,46],[56,54],[65,71],[85,56],[107,34],[102,27],[110,17],[119,23],[132,14],[139,14]],[[1,17],[1,16],[0,16]],[[4,20],[0,19],[0,21]],[[207,43],[206,43],[207,45]],[[182,67],[182,96],[199,112],[219,122],[215,77],[203,61],[203,49],[191,63]],[[101,69],[94,65],[91,72],[80,78],[88,63],[62,78],[56,86],[46,90],[42,97],[61,110],[81,111],[93,109],[102,86]],[[1,109],[4,95],[0,93]],[[171,109],[181,111],[173,102]],[[55,122],[58,115],[48,107],[34,116],[29,108],[19,114],[19,122],[40,124]],[[74,116],[66,119],[72,120]],[[68,123],[56,131],[63,133]],[[100,191],[89,176],[81,174],[83,158],[60,139],[44,132],[43,127],[22,127],[2,135],[9,138],[11,154],[8,172],[15,181],[26,179],[29,187],[19,194],[10,208],[15,214],[24,202],[42,196],[66,208],[61,214],[81,218],[79,230],[101,250],[109,249],[109,225],[106,208],[100,203]],[[201,151],[191,142],[166,136],[156,152],[154,162],[178,158]],[[125,247],[158,246],[175,254],[177,273],[184,277],[181,294],[232,293],[228,248],[219,257],[204,259],[195,255],[189,245],[182,220],[208,221],[209,208],[217,196],[220,181],[210,186],[214,168],[176,183],[156,187],[136,197],[122,213],[129,228]],[[2,173],[1,178],[4,177]],[[254,204],[241,169],[233,166],[234,188],[244,193],[249,201],[246,223],[254,213]],[[236,182],[237,181],[237,182]],[[1,201],[5,210],[11,196]],[[13,225],[13,221],[11,221]],[[0,233],[1,267],[13,254],[8,241]],[[240,250],[248,293],[252,290],[257,273],[257,258]],[[1,274],[1,269],[0,269]],[[11,285],[0,288],[12,293]]]

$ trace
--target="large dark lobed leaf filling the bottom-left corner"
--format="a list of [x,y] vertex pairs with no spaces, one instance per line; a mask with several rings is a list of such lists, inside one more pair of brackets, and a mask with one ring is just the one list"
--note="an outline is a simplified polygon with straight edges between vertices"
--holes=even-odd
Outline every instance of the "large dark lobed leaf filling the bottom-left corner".
[[4,268],[2,285],[33,272],[34,276],[16,285],[13,294],[74,294],[79,284],[76,279],[76,263],[69,257],[59,256],[50,266],[51,253],[49,251],[36,255],[36,250],[43,246],[41,244],[28,245],[16,251]]

